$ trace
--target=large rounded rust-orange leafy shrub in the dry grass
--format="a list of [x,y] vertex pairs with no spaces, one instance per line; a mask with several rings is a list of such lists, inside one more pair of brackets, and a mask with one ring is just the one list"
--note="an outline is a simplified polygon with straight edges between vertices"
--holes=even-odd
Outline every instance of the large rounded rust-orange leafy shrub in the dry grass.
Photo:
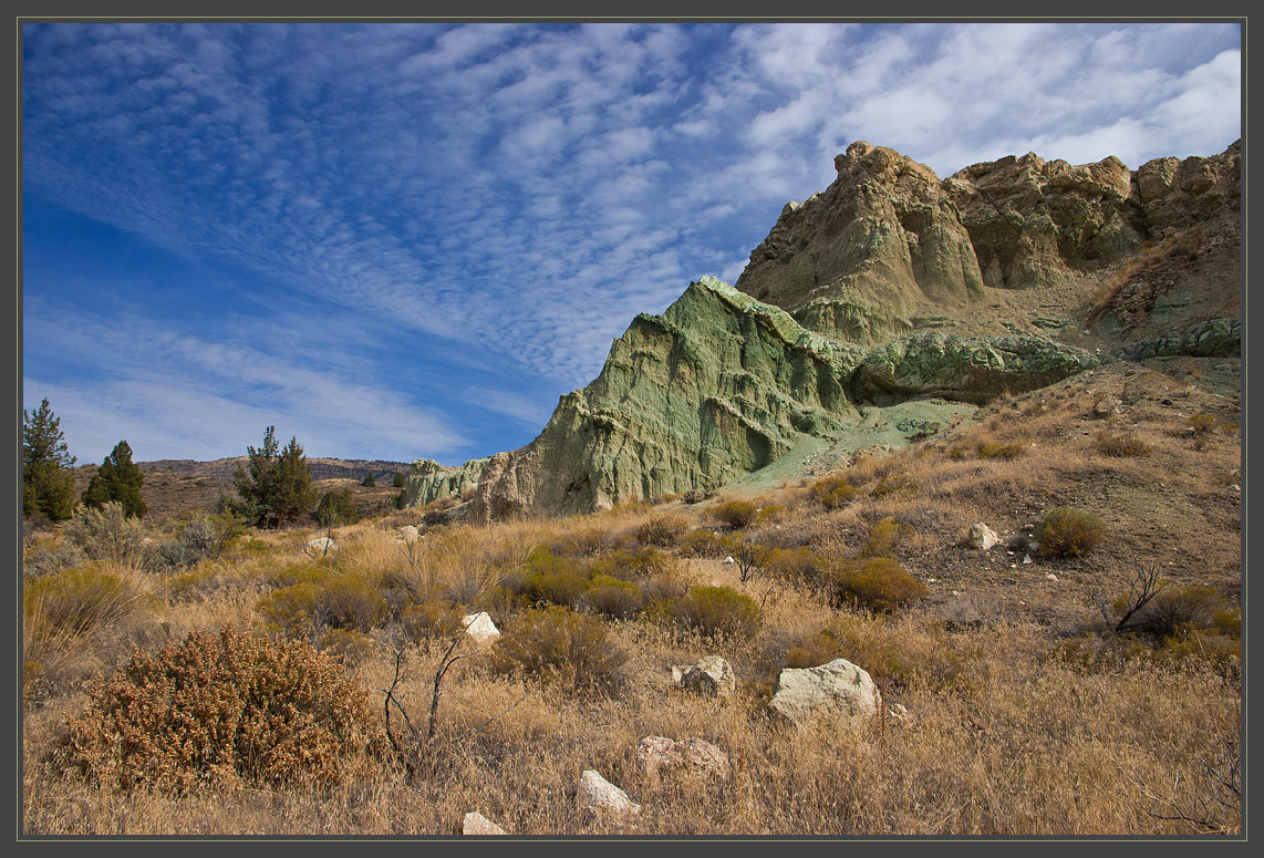
[[336,785],[384,751],[358,684],[330,656],[225,627],[137,652],[90,690],[66,747],[82,775],[154,785]]

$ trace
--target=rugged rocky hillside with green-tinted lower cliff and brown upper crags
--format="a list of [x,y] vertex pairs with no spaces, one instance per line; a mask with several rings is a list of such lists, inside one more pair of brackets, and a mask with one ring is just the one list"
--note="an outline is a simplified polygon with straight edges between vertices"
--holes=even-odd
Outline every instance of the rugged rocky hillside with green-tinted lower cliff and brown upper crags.
[[641,315],[527,446],[412,465],[406,500],[473,521],[761,484],[897,446],[1004,392],[1115,360],[1235,356],[1240,153],[939,181],[854,143],[729,287]]

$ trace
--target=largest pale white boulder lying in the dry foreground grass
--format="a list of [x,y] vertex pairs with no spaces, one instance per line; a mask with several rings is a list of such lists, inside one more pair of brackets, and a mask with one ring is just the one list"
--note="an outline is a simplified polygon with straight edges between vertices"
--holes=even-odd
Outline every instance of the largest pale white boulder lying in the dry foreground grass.
[[834,658],[819,667],[782,670],[769,708],[795,723],[822,716],[861,727],[882,711],[882,695],[868,671]]

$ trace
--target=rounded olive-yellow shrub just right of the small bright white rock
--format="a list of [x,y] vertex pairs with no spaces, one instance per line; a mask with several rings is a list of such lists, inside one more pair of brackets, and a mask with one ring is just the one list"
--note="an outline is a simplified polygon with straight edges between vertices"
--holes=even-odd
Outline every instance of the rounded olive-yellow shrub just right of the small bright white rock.
[[608,639],[602,620],[554,605],[528,610],[508,624],[492,653],[492,668],[538,676],[571,691],[614,694],[626,679],[626,653]]

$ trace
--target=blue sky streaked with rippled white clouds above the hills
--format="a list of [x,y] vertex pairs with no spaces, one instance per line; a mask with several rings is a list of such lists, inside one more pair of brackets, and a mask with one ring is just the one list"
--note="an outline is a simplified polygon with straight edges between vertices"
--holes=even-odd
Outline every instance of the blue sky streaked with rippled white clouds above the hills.
[[856,140],[1241,135],[1237,24],[23,27],[23,403],[80,464],[527,444]]

